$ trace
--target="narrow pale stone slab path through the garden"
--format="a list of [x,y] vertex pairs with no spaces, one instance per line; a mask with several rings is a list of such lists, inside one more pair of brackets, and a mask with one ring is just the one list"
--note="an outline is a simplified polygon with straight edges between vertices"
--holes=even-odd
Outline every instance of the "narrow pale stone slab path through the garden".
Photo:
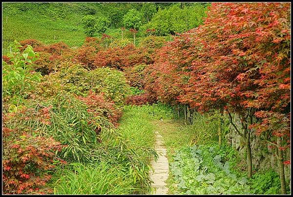
[[152,161],[152,166],[154,168],[154,172],[150,172],[150,178],[154,182],[152,183],[152,187],[156,188],[155,195],[157,194],[167,194],[168,188],[166,187],[165,181],[169,175],[169,164],[168,159],[166,157],[167,151],[164,146],[162,135],[159,134],[158,131],[156,133],[156,145],[155,149],[159,155],[157,162]]

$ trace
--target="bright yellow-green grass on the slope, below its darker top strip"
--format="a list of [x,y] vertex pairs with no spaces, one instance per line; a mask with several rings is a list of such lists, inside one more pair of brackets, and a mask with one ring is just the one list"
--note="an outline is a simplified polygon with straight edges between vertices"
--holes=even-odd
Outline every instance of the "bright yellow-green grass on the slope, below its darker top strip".
[[3,15],[2,49],[3,54],[8,52],[9,44],[26,39],[36,39],[44,44],[63,42],[69,46],[81,46],[86,35],[79,25],[77,15],[68,16],[68,19],[57,19],[35,15],[33,11],[27,11],[23,15]]

